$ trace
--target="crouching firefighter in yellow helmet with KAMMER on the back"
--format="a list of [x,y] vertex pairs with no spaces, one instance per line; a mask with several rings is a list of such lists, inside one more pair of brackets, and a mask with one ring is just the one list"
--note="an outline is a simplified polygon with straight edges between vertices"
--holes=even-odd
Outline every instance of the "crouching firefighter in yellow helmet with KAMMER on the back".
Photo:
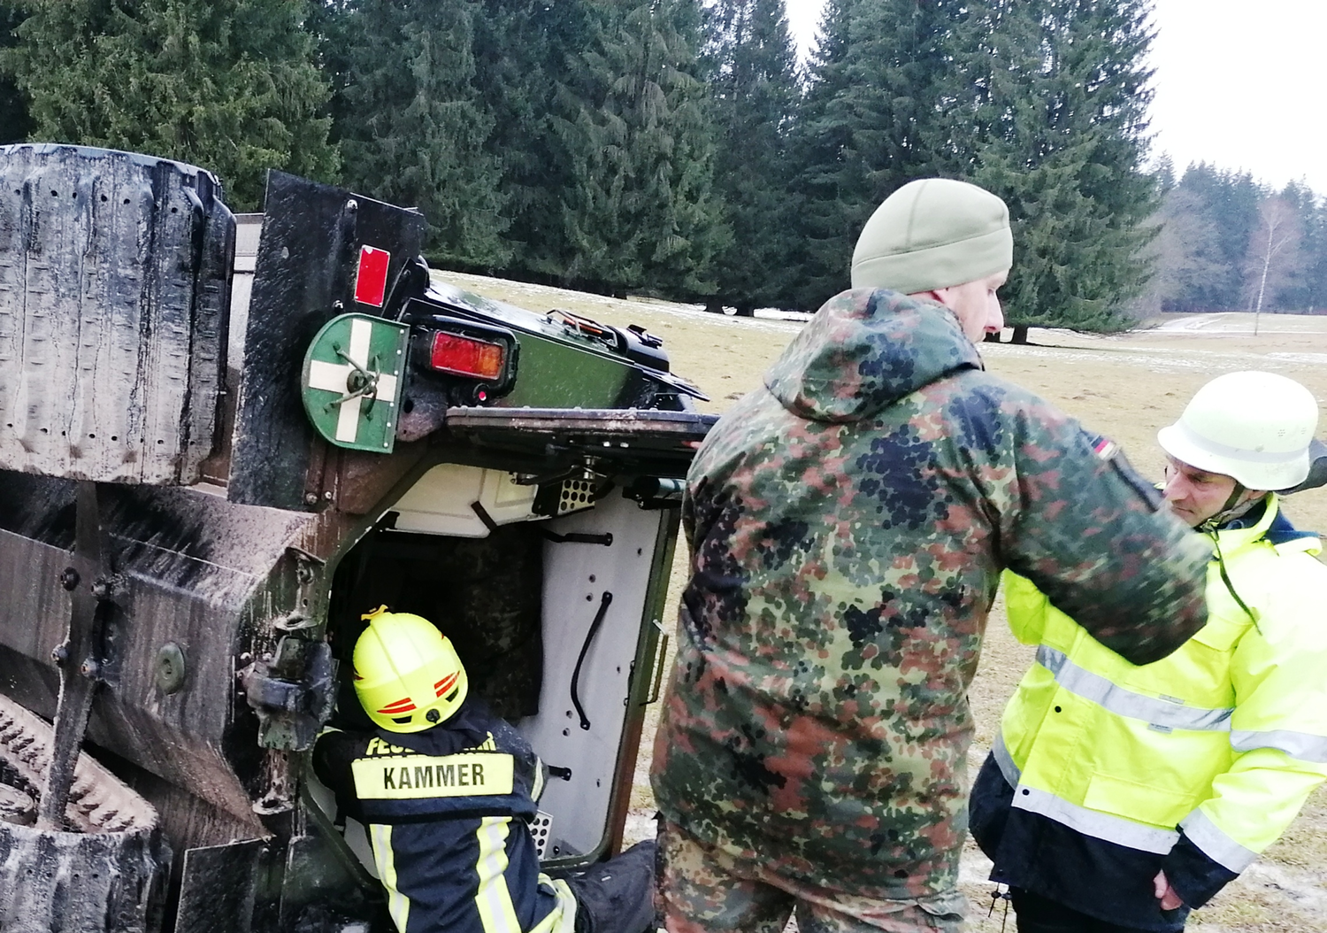
[[653,922],[654,847],[580,877],[543,875],[528,823],[544,766],[468,697],[451,641],[421,616],[366,616],[354,689],[374,733],[328,730],[313,766],[368,827],[399,933],[641,933]]

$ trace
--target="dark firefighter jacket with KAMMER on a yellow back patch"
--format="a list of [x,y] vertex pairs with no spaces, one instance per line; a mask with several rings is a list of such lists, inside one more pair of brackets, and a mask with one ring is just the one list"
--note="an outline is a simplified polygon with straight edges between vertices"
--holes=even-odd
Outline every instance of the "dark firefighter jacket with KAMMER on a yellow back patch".
[[543,766],[478,702],[414,734],[328,731],[318,779],[373,844],[401,933],[571,933],[576,898],[539,872],[527,820]]

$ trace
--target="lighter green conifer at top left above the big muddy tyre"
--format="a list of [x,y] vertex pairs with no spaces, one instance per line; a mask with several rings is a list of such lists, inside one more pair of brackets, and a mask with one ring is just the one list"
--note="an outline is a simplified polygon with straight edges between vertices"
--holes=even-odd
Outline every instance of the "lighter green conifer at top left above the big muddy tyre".
[[15,1],[5,61],[35,138],[206,166],[242,210],[269,167],[336,177],[304,0]]

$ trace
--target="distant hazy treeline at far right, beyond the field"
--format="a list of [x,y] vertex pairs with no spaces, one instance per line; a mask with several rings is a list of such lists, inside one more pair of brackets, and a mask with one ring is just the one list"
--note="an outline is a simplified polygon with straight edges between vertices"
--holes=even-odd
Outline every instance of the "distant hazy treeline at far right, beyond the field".
[[1157,182],[1153,309],[1327,313],[1327,200],[1208,163],[1176,180],[1162,159]]

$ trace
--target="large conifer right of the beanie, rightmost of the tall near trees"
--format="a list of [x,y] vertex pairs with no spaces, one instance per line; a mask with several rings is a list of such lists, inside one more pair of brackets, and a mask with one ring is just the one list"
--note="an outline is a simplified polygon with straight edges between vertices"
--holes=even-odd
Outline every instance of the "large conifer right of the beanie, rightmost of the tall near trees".
[[[1147,285],[1143,170],[1152,38],[1148,0],[970,4],[958,70],[975,94],[971,179],[1005,198],[1015,341],[1028,325],[1119,330]],[[955,142],[967,149],[962,142]]]

